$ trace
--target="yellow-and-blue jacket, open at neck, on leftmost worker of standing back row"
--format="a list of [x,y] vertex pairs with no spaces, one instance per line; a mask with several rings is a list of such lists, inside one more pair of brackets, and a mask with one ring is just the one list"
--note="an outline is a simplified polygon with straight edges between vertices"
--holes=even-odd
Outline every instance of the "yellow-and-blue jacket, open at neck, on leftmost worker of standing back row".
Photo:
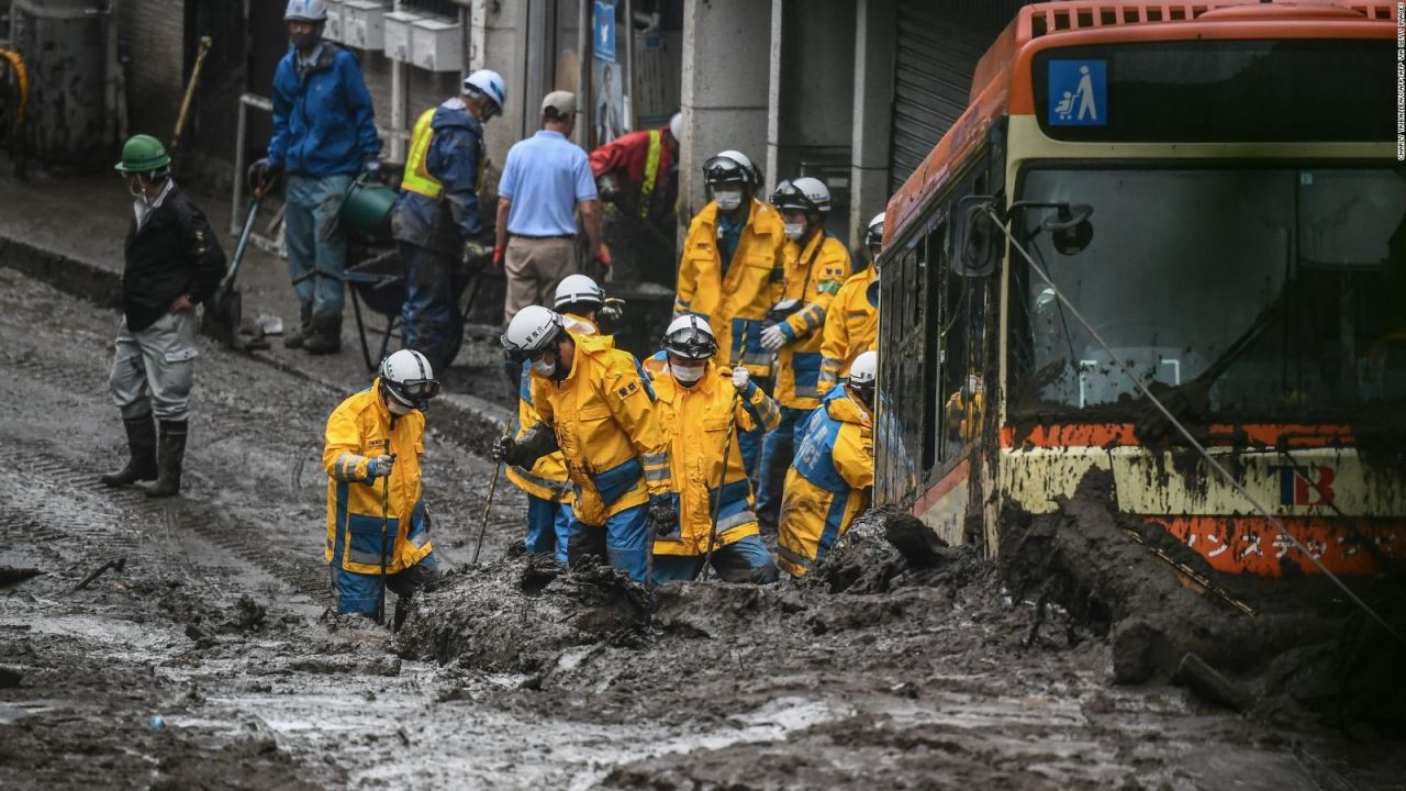
[[[752,198],[752,213],[724,267],[718,252],[717,203],[709,203],[689,222],[679,260],[679,289],[673,315],[693,312],[707,319],[717,338],[716,360],[741,360],[756,377],[772,376],[772,356],[762,349],[762,321],[780,298],[786,228],[782,215]],[[742,349],[745,338],[747,348]]]

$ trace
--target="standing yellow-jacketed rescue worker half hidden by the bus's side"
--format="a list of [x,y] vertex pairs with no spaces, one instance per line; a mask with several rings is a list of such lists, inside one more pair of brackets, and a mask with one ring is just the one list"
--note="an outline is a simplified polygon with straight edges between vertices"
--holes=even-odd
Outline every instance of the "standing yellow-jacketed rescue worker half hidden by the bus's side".
[[883,248],[883,214],[876,214],[865,231],[869,266],[851,274],[825,314],[825,336],[820,345],[820,394],[849,376],[855,357],[879,346],[879,252]]

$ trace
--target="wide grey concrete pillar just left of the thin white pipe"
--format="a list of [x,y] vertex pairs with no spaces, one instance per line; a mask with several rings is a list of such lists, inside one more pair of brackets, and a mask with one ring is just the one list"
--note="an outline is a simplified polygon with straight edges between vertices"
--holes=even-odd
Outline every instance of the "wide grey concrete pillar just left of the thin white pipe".
[[728,148],[766,159],[772,8],[759,0],[685,0],[681,222],[707,201],[703,160]]

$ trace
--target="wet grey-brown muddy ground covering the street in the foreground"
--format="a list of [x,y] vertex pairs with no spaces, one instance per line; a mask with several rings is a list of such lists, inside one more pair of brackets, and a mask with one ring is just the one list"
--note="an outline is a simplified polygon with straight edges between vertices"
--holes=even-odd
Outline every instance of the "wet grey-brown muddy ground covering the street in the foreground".
[[1038,590],[960,550],[914,570],[879,519],[806,584],[651,602],[513,556],[509,488],[467,567],[492,467],[443,438],[426,487],[453,571],[394,639],[329,618],[318,456],[342,393],[202,345],[187,491],[152,504],[96,483],[122,456],[115,325],[0,269],[0,567],[39,571],[0,573],[0,787],[1403,785],[1400,742],[1112,684],[1098,622],[1046,604],[1032,628]]

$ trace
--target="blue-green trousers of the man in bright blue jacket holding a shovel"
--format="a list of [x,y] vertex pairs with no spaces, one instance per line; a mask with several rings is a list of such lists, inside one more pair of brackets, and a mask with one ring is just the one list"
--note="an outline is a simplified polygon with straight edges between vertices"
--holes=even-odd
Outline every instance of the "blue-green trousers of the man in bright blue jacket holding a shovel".
[[298,303],[312,310],[314,321],[342,319],[347,239],[337,211],[350,186],[347,175],[288,176],[284,203],[288,276]]

